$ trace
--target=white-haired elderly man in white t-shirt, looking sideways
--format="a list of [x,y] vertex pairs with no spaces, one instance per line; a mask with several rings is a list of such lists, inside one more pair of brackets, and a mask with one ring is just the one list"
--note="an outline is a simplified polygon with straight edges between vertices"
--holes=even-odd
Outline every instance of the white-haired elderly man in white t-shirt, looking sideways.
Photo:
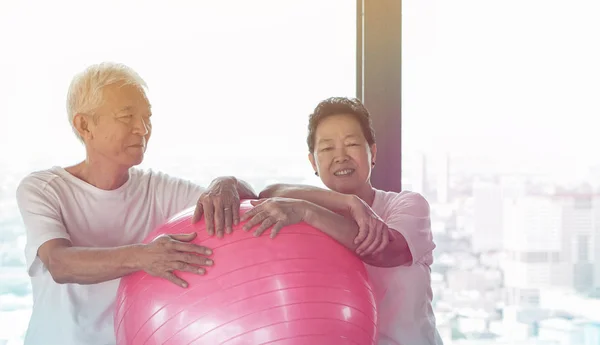
[[212,264],[210,248],[190,243],[194,233],[141,244],[145,236],[194,204],[194,221],[204,216],[209,233],[222,236],[239,222],[240,198],[256,197],[234,177],[204,189],[134,168],[152,132],[145,89],[124,65],[102,63],[77,75],[67,112],[85,160],[31,173],[18,187],[34,295],[25,344],[114,344],[120,277],[143,270],[185,288],[175,270],[204,274]]

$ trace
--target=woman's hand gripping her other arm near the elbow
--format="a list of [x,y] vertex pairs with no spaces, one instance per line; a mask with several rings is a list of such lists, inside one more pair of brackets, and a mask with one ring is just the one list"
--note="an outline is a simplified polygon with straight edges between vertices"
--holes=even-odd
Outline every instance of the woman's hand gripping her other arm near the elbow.
[[355,195],[349,198],[348,213],[358,224],[358,235],[354,239],[354,243],[359,244],[356,253],[361,256],[381,253],[390,242],[385,222]]

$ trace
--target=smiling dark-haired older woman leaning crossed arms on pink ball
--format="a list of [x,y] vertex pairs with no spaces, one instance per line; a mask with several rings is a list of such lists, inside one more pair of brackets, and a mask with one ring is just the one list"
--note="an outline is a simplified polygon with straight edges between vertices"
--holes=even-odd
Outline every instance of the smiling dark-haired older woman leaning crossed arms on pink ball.
[[[372,187],[377,146],[359,100],[331,98],[309,118],[308,159],[329,190],[273,185],[242,216],[245,228],[271,236],[307,222],[356,251],[366,264],[378,307],[380,345],[438,345],[431,306],[429,205],[419,194]],[[284,230],[285,231],[285,230]]]

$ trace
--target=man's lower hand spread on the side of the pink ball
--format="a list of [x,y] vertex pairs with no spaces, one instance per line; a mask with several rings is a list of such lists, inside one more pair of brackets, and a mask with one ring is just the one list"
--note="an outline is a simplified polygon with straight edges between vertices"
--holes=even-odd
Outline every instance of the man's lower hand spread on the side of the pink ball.
[[157,237],[142,247],[139,255],[140,267],[150,275],[187,287],[188,283],[176,276],[173,271],[204,274],[206,270],[200,266],[213,264],[213,261],[206,257],[212,254],[209,248],[187,243],[194,238],[196,238],[195,232]]

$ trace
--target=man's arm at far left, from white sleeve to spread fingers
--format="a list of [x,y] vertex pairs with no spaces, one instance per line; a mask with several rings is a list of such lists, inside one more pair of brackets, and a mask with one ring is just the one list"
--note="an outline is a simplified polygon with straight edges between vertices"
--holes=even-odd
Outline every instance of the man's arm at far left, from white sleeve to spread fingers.
[[207,248],[185,243],[196,234],[163,236],[149,244],[115,248],[72,246],[58,197],[46,186],[31,177],[17,189],[27,235],[25,257],[32,277],[47,270],[57,283],[95,284],[144,270],[184,286],[172,270],[200,273],[198,266],[210,265],[200,256],[209,255]]

